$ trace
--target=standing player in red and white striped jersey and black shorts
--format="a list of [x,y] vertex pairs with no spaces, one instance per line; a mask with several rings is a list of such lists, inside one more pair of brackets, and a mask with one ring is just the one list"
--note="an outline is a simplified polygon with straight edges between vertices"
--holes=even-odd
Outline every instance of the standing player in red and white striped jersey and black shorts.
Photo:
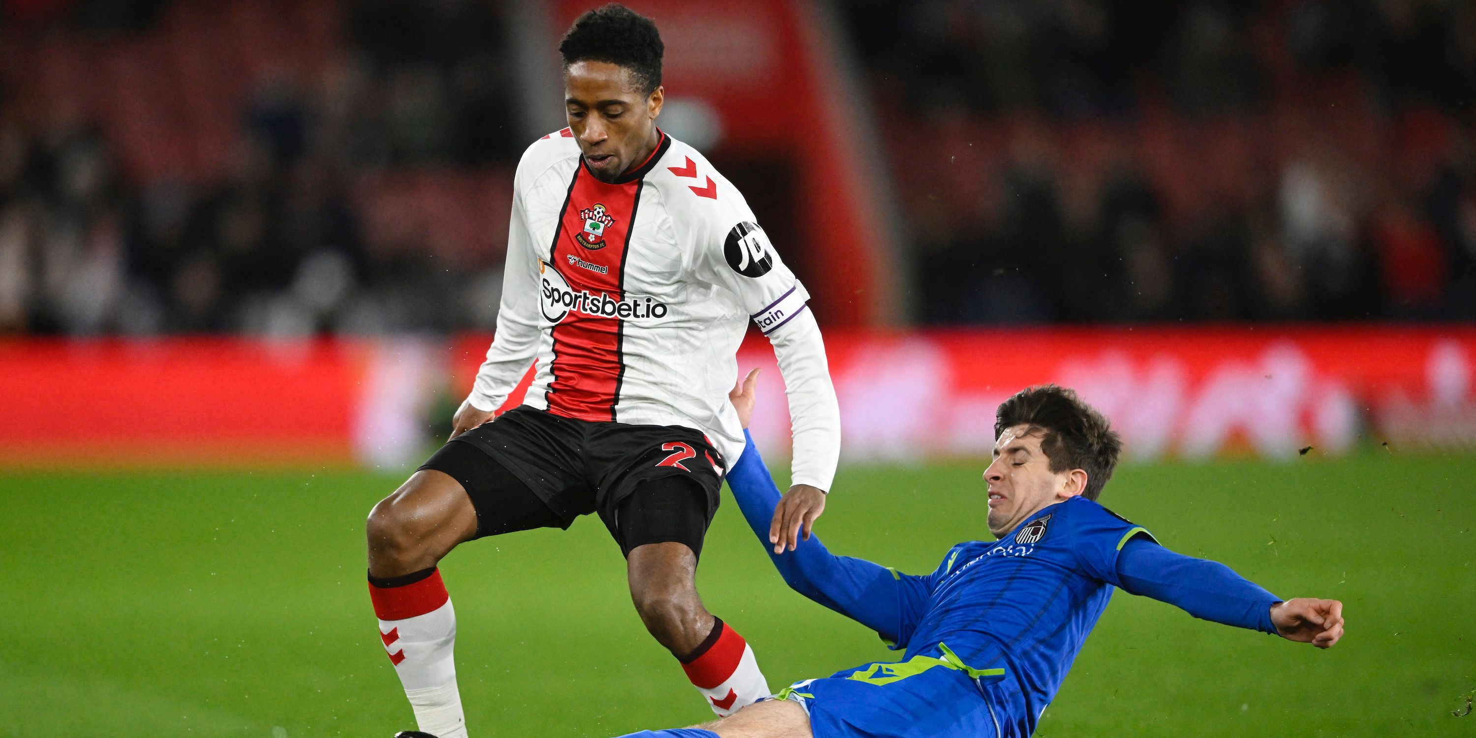
[[[728,390],[750,320],[790,397],[794,486],[770,512],[791,545],[824,511],[840,453],[804,285],[742,195],[655,124],[655,25],[610,4],[580,16],[559,52],[570,125],[518,164],[487,360],[452,440],[369,515],[369,592],[419,735],[466,735],[437,562],[472,539],[590,512],[626,555],[641,620],[708,707],[768,697],[753,649],[695,586],[725,468],[744,447]],[[523,406],[493,419],[534,362]]]

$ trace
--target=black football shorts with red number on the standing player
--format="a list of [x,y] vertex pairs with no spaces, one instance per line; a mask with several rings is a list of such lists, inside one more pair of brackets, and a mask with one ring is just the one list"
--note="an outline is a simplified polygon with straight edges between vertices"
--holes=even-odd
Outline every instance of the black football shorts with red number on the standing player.
[[694,428],[580,421],[527,406],[458,435],[421,468],[462,484],[477,537],[567,528],[598,512],[624,555],[666,542],[701,555],[723,475],[717,449]]

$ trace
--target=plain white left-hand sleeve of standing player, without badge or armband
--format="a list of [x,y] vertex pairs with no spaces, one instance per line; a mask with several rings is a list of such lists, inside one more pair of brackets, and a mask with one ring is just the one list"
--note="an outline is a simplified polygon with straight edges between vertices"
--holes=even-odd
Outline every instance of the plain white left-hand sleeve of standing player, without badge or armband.
[[[534,145],[539,146],[539,145]],[[508,224],[508,257],[502,267],[502,303],[497,307],[497,329],[487,360],[477,370],[466,401],[483,412],[492,412],[508,400],[528,370],[539,348],[539,261],[537,246],[528,233],[524,205],[530,159],[534,149],[524,154],[512,180],[512,217]]]

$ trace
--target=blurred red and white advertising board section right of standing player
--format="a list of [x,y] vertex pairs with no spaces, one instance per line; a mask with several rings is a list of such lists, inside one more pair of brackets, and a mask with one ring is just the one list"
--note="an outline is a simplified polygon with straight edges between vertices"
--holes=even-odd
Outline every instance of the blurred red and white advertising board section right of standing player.
[[[1023,387],[1072,387],[1103,410],[1125,455],[1269,459],[1345,453],[1361,438],[1402,450],[1476,450],[1476,329],[1110,328],[828,337],[843,456],[977,456],[995,409]],[[788,416],[766,347],[754,437]]]

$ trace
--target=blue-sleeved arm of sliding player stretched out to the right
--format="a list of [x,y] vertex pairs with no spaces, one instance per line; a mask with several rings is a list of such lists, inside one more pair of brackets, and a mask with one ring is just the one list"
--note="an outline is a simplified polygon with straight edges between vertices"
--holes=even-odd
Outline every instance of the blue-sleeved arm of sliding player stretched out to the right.
[[1289,641],[1331,648],[1343,638],[1343,604],[1336,599],[1281,601],[1230,567],[1135,537],[1117,556],[1117,577],[1134,595],[1150,596],[1203,618]]

